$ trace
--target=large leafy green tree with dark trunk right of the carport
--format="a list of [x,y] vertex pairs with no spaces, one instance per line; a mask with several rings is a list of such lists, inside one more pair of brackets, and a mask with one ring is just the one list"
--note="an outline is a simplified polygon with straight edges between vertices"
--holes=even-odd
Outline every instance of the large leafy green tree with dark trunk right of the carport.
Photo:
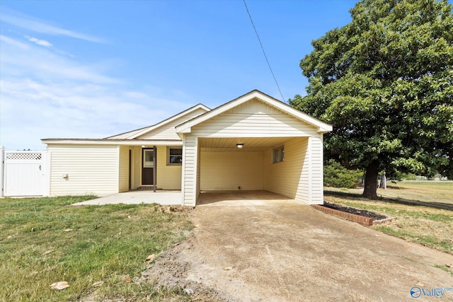
[[362,0],[352,21],[311,44],[294,108],[333,124],[326,157],[365,169],[453,177],[453,15],[436,0]]

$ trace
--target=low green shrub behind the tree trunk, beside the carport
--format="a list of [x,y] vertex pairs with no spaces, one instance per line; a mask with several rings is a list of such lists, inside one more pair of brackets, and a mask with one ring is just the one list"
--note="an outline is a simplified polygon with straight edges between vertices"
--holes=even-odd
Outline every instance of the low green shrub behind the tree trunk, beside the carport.
[[324,165],[325,187],[356,187],[362,177],[361,170],[348,170],[333,159]]

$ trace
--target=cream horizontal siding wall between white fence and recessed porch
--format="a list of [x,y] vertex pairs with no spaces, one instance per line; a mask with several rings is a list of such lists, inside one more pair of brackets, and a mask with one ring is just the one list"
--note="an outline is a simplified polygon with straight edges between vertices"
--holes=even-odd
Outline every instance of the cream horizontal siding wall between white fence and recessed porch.
[[[118,192],[118,146],[49,145],[50,195]],[[63,175],[67,174],[68,178]]]

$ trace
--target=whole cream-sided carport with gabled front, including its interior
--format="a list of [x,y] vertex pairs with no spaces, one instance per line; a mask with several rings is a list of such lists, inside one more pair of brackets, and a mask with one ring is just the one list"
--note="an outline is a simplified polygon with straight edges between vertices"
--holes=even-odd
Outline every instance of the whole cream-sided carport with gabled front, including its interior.
[[252,91],[176,127],[183,139],[183,204],[202,191],[266,190],[323,203],[328,124]]

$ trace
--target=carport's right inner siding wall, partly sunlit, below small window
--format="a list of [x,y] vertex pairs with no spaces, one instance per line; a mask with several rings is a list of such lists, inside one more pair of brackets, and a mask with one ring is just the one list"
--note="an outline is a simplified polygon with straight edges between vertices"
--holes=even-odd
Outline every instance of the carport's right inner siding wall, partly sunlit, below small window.
[[306,152],[309,139],[291,139],[285,146],[285,161],[272,162],[273,149],[264,152],[265,190],[309,203]]

